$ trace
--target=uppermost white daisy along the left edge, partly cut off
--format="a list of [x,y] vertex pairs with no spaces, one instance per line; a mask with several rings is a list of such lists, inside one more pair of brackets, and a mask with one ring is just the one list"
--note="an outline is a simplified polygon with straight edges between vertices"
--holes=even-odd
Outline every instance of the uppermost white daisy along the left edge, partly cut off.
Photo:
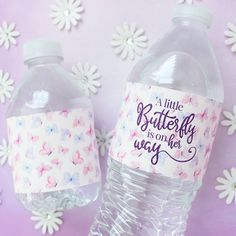
[[4,46],[7,50],[11,47],[11,44],[16,45],[16,38],[20,36],[18,31],[15,31],[16,24],[8,24],[3,21],[0,26],[0,46]]

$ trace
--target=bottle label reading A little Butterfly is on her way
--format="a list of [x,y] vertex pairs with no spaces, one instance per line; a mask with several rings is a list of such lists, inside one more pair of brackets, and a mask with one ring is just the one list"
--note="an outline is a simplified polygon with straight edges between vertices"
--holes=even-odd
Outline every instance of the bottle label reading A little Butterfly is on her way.
[[220,112],[209,98],[128,83],[109,154],[131,168],[201,180]]

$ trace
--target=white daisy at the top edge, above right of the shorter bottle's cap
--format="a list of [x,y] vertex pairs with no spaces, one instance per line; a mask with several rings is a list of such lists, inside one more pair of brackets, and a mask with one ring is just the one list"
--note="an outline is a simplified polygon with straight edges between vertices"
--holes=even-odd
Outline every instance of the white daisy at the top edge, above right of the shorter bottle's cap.
[[54,25],[60,30],[71,30],[81,20],[84,8],[80,0],[57,0],[51,7],[51,18]]

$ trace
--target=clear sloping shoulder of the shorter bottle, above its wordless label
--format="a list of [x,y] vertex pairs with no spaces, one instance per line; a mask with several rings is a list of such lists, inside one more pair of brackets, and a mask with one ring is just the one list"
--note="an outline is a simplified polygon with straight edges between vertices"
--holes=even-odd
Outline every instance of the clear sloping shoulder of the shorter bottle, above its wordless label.
[[7,117],[87,107],[91,103],[59,65],[36,66],[24,75],[7,110]]

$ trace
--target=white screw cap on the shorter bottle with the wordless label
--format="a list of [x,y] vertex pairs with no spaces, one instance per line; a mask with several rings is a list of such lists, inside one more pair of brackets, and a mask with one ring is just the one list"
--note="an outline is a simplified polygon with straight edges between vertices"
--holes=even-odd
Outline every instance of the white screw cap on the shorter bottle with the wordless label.
[[63,59],[61,45],[46,39],[34,39],[23,46],[24,62],[38,58],[56,56]]

